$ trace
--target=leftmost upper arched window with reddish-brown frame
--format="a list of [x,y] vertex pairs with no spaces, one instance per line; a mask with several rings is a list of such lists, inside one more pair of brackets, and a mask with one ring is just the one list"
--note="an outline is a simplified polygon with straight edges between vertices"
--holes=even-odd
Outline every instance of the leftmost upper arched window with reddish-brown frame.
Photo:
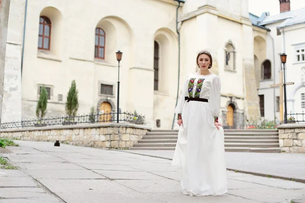
[[51,20],[46,16],[40,16],[38,48],[44,50],[50,50],[50,43],[51,43]]

